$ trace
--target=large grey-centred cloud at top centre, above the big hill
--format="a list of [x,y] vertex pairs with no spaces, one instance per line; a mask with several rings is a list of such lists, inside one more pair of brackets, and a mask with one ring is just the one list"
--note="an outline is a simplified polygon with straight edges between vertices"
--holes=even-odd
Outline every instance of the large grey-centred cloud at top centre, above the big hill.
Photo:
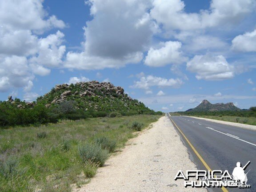
[[88,0],[93,19],[84,27],[84,51],[68,52],[66,68],[120,68],[138,63],[150,43],[156,24],[147,0]]

